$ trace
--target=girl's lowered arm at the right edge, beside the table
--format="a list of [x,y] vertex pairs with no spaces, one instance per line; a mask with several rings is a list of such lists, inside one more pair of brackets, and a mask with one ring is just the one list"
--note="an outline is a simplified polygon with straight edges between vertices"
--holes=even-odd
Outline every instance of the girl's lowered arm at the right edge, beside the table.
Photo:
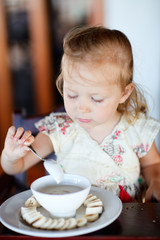
[[142,174],[148,185],[145,199],[151,201],[155,198],[160,202],[160,154],[157,151],[155,142],[147,155],[140,159]]

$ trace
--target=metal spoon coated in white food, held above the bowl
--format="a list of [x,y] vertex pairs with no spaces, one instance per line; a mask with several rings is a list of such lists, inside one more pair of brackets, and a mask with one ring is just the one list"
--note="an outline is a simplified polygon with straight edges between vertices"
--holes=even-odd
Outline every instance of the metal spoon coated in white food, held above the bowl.
[[64,178],[64,172],[60,164],[54,159],[45,159],[39,156],[39,154],[34,150],[34,148],[30,145],[29,149],[32,153],[34,153],[39,159],[44,161],[43,165],[47,172],[53,176],[57,183],[60,183]]

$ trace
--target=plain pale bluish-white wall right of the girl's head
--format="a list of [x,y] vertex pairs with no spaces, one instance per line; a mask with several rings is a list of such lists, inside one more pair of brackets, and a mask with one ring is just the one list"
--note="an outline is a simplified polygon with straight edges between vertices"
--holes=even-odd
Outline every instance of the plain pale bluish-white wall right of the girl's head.
[[[150,115],[160,120],[160,1],[104,0],[105,25],[131,41],[134,81],[145,89]],[[160,150],[160,134],[156,139]]]

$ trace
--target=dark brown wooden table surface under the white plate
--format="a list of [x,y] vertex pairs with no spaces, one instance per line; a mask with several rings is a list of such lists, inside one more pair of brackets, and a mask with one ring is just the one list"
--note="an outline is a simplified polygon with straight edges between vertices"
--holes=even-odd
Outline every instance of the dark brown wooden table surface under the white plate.
[[[49,239],[24,236],[0,227],[0,239]],[[160,203],[124,203],[123,210],[117,220],[109,226],[82,236],[65,239],[77,240],[115,240],[115,239],[160,239]],[[64,238],[54,238],[64,239]]]

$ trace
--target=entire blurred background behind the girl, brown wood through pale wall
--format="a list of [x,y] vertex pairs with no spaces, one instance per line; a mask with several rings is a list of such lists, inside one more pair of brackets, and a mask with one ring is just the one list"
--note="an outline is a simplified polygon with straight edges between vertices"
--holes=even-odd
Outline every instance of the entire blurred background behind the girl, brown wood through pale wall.
[[55,81],[63,37],[77,25],[100,24],[128,36],[134,81],[160,120],[159,23],[159,0],[0,0],[0,152],[16,114],[27,119],[63,106]]

